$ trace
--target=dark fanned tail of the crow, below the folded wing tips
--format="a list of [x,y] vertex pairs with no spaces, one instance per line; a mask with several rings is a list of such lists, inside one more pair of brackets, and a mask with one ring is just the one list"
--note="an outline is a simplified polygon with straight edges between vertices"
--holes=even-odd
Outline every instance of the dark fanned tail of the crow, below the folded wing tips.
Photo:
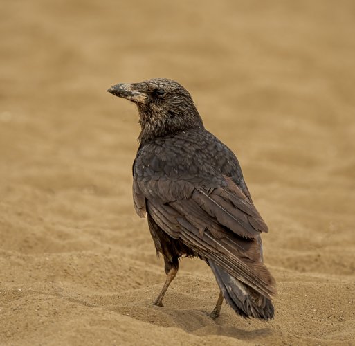
[[215,274],[226,302],[236,313],[244,318],[253,317],[260,320],[273,318],[274,309],[270,298],[235,279],[212,260],[208,260],[208,263]]

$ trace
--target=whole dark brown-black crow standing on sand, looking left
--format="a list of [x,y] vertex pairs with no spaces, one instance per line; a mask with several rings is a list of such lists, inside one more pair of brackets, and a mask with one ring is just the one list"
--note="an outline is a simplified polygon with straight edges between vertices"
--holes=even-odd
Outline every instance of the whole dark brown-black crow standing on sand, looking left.
[[264,265],[261,239],[268,226],[235,154],[205,129],[192,96],[174,80],[122,83],[107,91],[138,108],[134,208],[147,216],[167,275],[154,305],[163,307],[179,259],[199,257],[220,289],[210,317],[220,316],[226,300],[243,318],[271,320],[275,280]]

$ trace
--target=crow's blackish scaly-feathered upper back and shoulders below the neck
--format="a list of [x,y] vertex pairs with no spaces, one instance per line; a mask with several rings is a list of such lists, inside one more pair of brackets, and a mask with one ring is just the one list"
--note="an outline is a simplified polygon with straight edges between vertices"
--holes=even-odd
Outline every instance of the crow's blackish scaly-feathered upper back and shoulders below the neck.
[[235,154],[205,129],[181,131],[141,145],[133,174],[138,181],[182,179],[206,187],[223,185],[222,176],[229,176],[244,185]]

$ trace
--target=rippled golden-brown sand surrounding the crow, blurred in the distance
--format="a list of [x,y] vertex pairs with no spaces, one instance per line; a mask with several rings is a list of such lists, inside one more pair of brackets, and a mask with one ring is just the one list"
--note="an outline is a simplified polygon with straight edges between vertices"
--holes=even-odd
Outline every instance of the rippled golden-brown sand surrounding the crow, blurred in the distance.
[[[2,1],[1,345],[355,345],[354,1]],[[165,280],[118,82],[178,80],[269,225],[272,322]]]

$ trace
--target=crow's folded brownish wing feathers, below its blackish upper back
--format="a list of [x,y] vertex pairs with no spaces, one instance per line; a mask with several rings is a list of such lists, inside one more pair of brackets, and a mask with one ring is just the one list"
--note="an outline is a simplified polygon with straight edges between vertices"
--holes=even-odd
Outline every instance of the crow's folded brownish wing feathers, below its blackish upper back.
[[134,180],[139,215],[149,212],[166,233],[263,295],[275,293],[262,263],[260,232],[267,227],[253,203],[228,177],[217,188],[185,180]]

